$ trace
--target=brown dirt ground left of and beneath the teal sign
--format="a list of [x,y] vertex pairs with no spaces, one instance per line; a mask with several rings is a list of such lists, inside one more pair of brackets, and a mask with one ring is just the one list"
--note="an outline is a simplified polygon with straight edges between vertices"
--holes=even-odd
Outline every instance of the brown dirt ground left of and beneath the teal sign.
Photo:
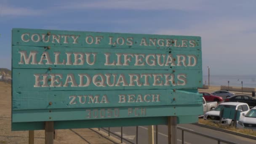
[[[28,144],[28,131],[11,131],[11,85],[0,82],[0,144]],[[35,144],[45,144],[44,131],[35,131]],[[54,144],[113,144],[91,129],[57,130]]]

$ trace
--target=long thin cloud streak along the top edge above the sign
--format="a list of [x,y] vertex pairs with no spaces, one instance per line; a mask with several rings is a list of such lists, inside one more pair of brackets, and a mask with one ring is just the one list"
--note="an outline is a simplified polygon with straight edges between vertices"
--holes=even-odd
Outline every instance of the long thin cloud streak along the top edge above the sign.
[[93,0],[91,2],[60,4],[62,8],[100,8],[100,9],[133,9],[133,10],[198,10],[205,8],[204,0]]

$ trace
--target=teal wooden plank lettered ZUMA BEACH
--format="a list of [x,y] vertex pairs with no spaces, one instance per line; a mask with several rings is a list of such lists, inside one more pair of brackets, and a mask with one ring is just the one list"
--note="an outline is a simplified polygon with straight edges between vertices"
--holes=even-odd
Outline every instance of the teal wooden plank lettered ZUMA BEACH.
[[[202,104],[202,95],[176,90],[13,92],[13,110]],[[51,104],[51,105],[50,105]]]

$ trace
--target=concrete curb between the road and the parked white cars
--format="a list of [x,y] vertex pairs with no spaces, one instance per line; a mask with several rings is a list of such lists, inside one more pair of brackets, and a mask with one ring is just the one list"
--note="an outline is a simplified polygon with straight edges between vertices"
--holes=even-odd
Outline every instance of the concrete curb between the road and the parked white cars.
[[216,130],[216,131],[222,131],[222,132],[230,133],[230,134],[233,134],[233,135],[236,135],[236,136],[242,136],[242,137],[245,137],[245,138],[248,138],[248,139],[256,140],[256,136],[251,136],[251,135],[247,135],[247,134],[243,134],[243,133],[237,133],[237,132],[225,130],[225,129],[222,129],[222,128],[216,128],[216,127],[213,127],[213,126],[204,125],[204,124],[201,124],[201,123],[193,123],[193,125],[197,125],[197,126],[201,126],[201,127],[204,127],[204,128],[209,128],[209,129],[213,129],[213,130]]

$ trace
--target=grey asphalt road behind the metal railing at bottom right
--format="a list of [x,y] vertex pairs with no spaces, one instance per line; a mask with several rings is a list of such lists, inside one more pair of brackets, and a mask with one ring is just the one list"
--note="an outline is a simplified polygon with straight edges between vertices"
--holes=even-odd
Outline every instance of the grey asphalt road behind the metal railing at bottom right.
[[[211,130],[208,128],[203,128],[197,125],[192,124],[182,124],[179,125],[183,128],[188,128],[192,131],[197,131],[204,134],[209,134],[211,136],[215,136],[221,139],[225,139],[228,141],[235,142],[237,144],[256,144],[256,140],[247,139],[241,136],[235,136],[229,133],[224,133],[220,131]],[[155,130],[155,129],[154,129]],[[112,133],[117,135],[121,135],[120,131],[121,128],[110,128]],[[138,128],[138,144],[148,144],[148,133],[147,133],[147,126],[139,126]],[[167,137],[167,126],[166,125],[158,125],[158,144],[167,144],[168,137]],[[114,136],[111,134],[111,136]],[[123,127],[123,137],[128,141],[131,141],[133,144],[136,144],[136,127]],[[118,137],[117,137],[118,138]],[[118,138],[120,139],[120,138]],[[185,144],[217,144],[217,141],[205,138],[203,136],[198,136],[192,133],[184,132],[184,140]],[[123,142],[129,144],[130,142],[123,140]],[[177,131],[177,141],[178,144],[181,144],[181,130]],[[156,144],[156,141],[155,141]],[[221,143],[224,144],[224,143]]]

